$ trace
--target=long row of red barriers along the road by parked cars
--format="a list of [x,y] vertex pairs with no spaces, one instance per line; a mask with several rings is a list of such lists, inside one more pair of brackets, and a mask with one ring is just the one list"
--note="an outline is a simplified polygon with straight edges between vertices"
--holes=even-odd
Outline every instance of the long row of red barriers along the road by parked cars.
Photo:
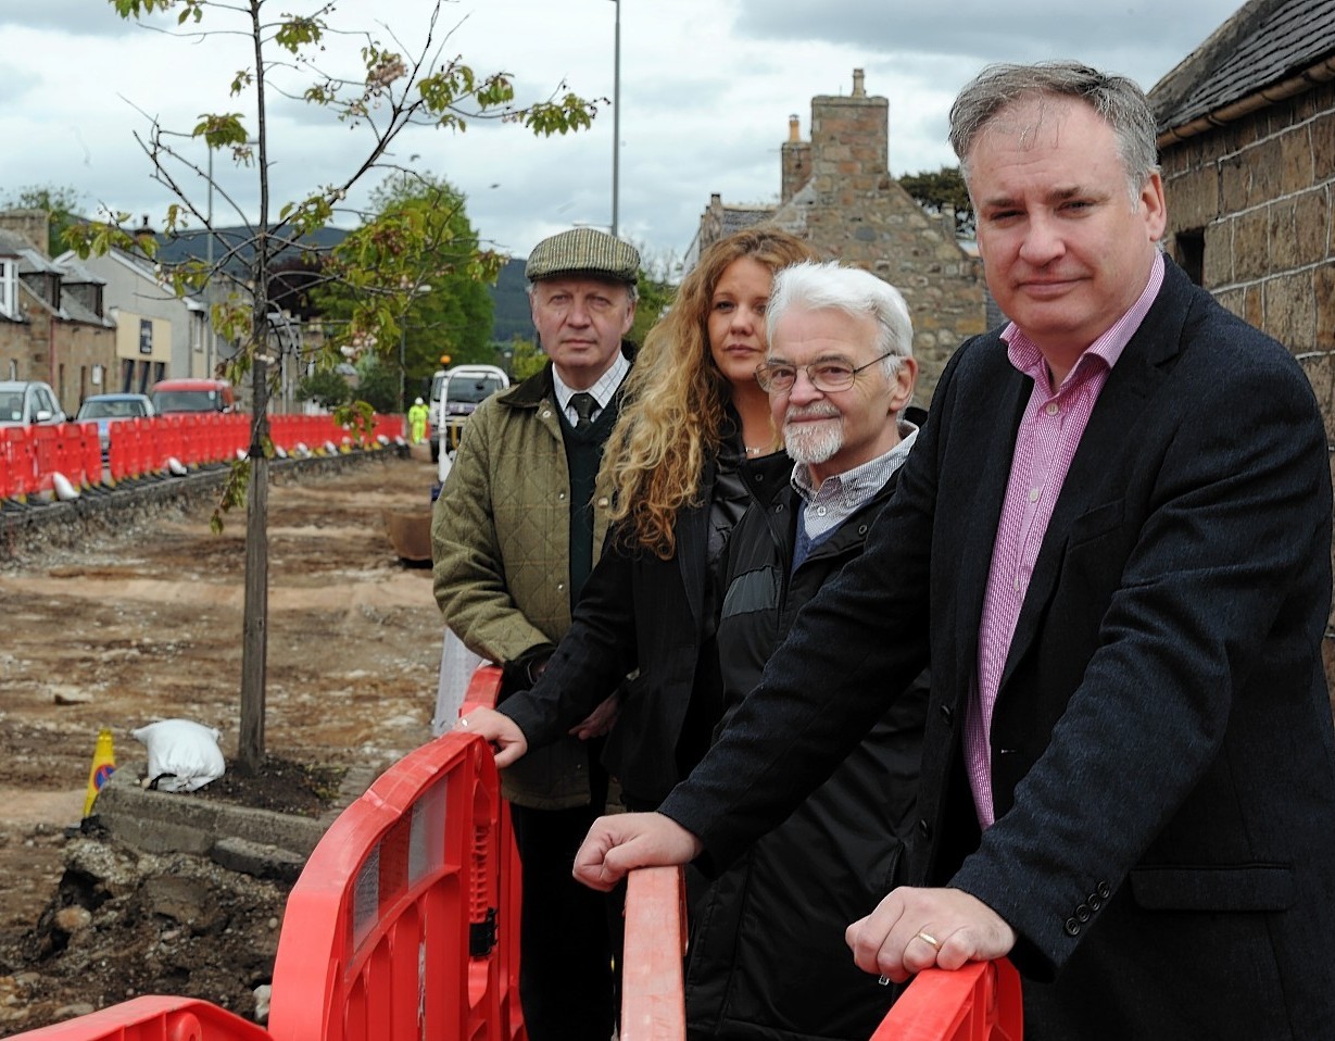
[[[291,454],[304,445],[319,454],[332,445],[364,446],[332,416],[271,416],[270,441]],[[403,438],[402,416],[376,416],[368,440]],[[56,474],[75,489],[111,486],[168,473],[172,460],[187,469],[228,462],[246,454],[251,417],[243,414],[174,414],[150,420],[121,420],[111,425],[105,464],[96,424],[64,422],[51,426],[13,426],[0,430],[0,502],[27,501],[51,492]]]

